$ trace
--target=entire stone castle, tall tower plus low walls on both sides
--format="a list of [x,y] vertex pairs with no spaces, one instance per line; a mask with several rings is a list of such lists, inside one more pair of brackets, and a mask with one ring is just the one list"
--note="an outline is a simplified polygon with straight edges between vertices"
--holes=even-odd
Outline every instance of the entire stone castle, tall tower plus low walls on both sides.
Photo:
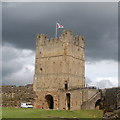
[[120,87],[85,87],[84,49],[84,37],[68,30],[59,38],[37,35],[34,82],[2,86],[2,106],[31,102],[40,109],[103,109],[105,113],[120,109]]

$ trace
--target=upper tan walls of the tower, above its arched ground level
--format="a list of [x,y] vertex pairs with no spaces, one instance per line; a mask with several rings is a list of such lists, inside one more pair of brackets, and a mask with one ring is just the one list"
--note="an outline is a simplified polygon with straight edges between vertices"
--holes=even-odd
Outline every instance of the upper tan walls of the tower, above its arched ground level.
[[[60,38],[41,34],[36,40],[34,90],[84,86],[84,38],[64,31]],[[79,66],[79,67],[78,67]],[[74,82],[73,82],[74,79]]]

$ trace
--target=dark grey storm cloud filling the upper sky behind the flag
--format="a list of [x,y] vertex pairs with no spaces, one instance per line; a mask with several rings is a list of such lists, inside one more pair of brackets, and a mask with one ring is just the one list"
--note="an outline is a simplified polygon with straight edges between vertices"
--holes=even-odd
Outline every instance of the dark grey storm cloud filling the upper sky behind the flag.
[[[82,34],[89,60],[117,60],[117,3],[3,3],[3,44],[35,50],[35,37],[54,37],[55,23]],[[61,30],[59,30],[59,34]]]

